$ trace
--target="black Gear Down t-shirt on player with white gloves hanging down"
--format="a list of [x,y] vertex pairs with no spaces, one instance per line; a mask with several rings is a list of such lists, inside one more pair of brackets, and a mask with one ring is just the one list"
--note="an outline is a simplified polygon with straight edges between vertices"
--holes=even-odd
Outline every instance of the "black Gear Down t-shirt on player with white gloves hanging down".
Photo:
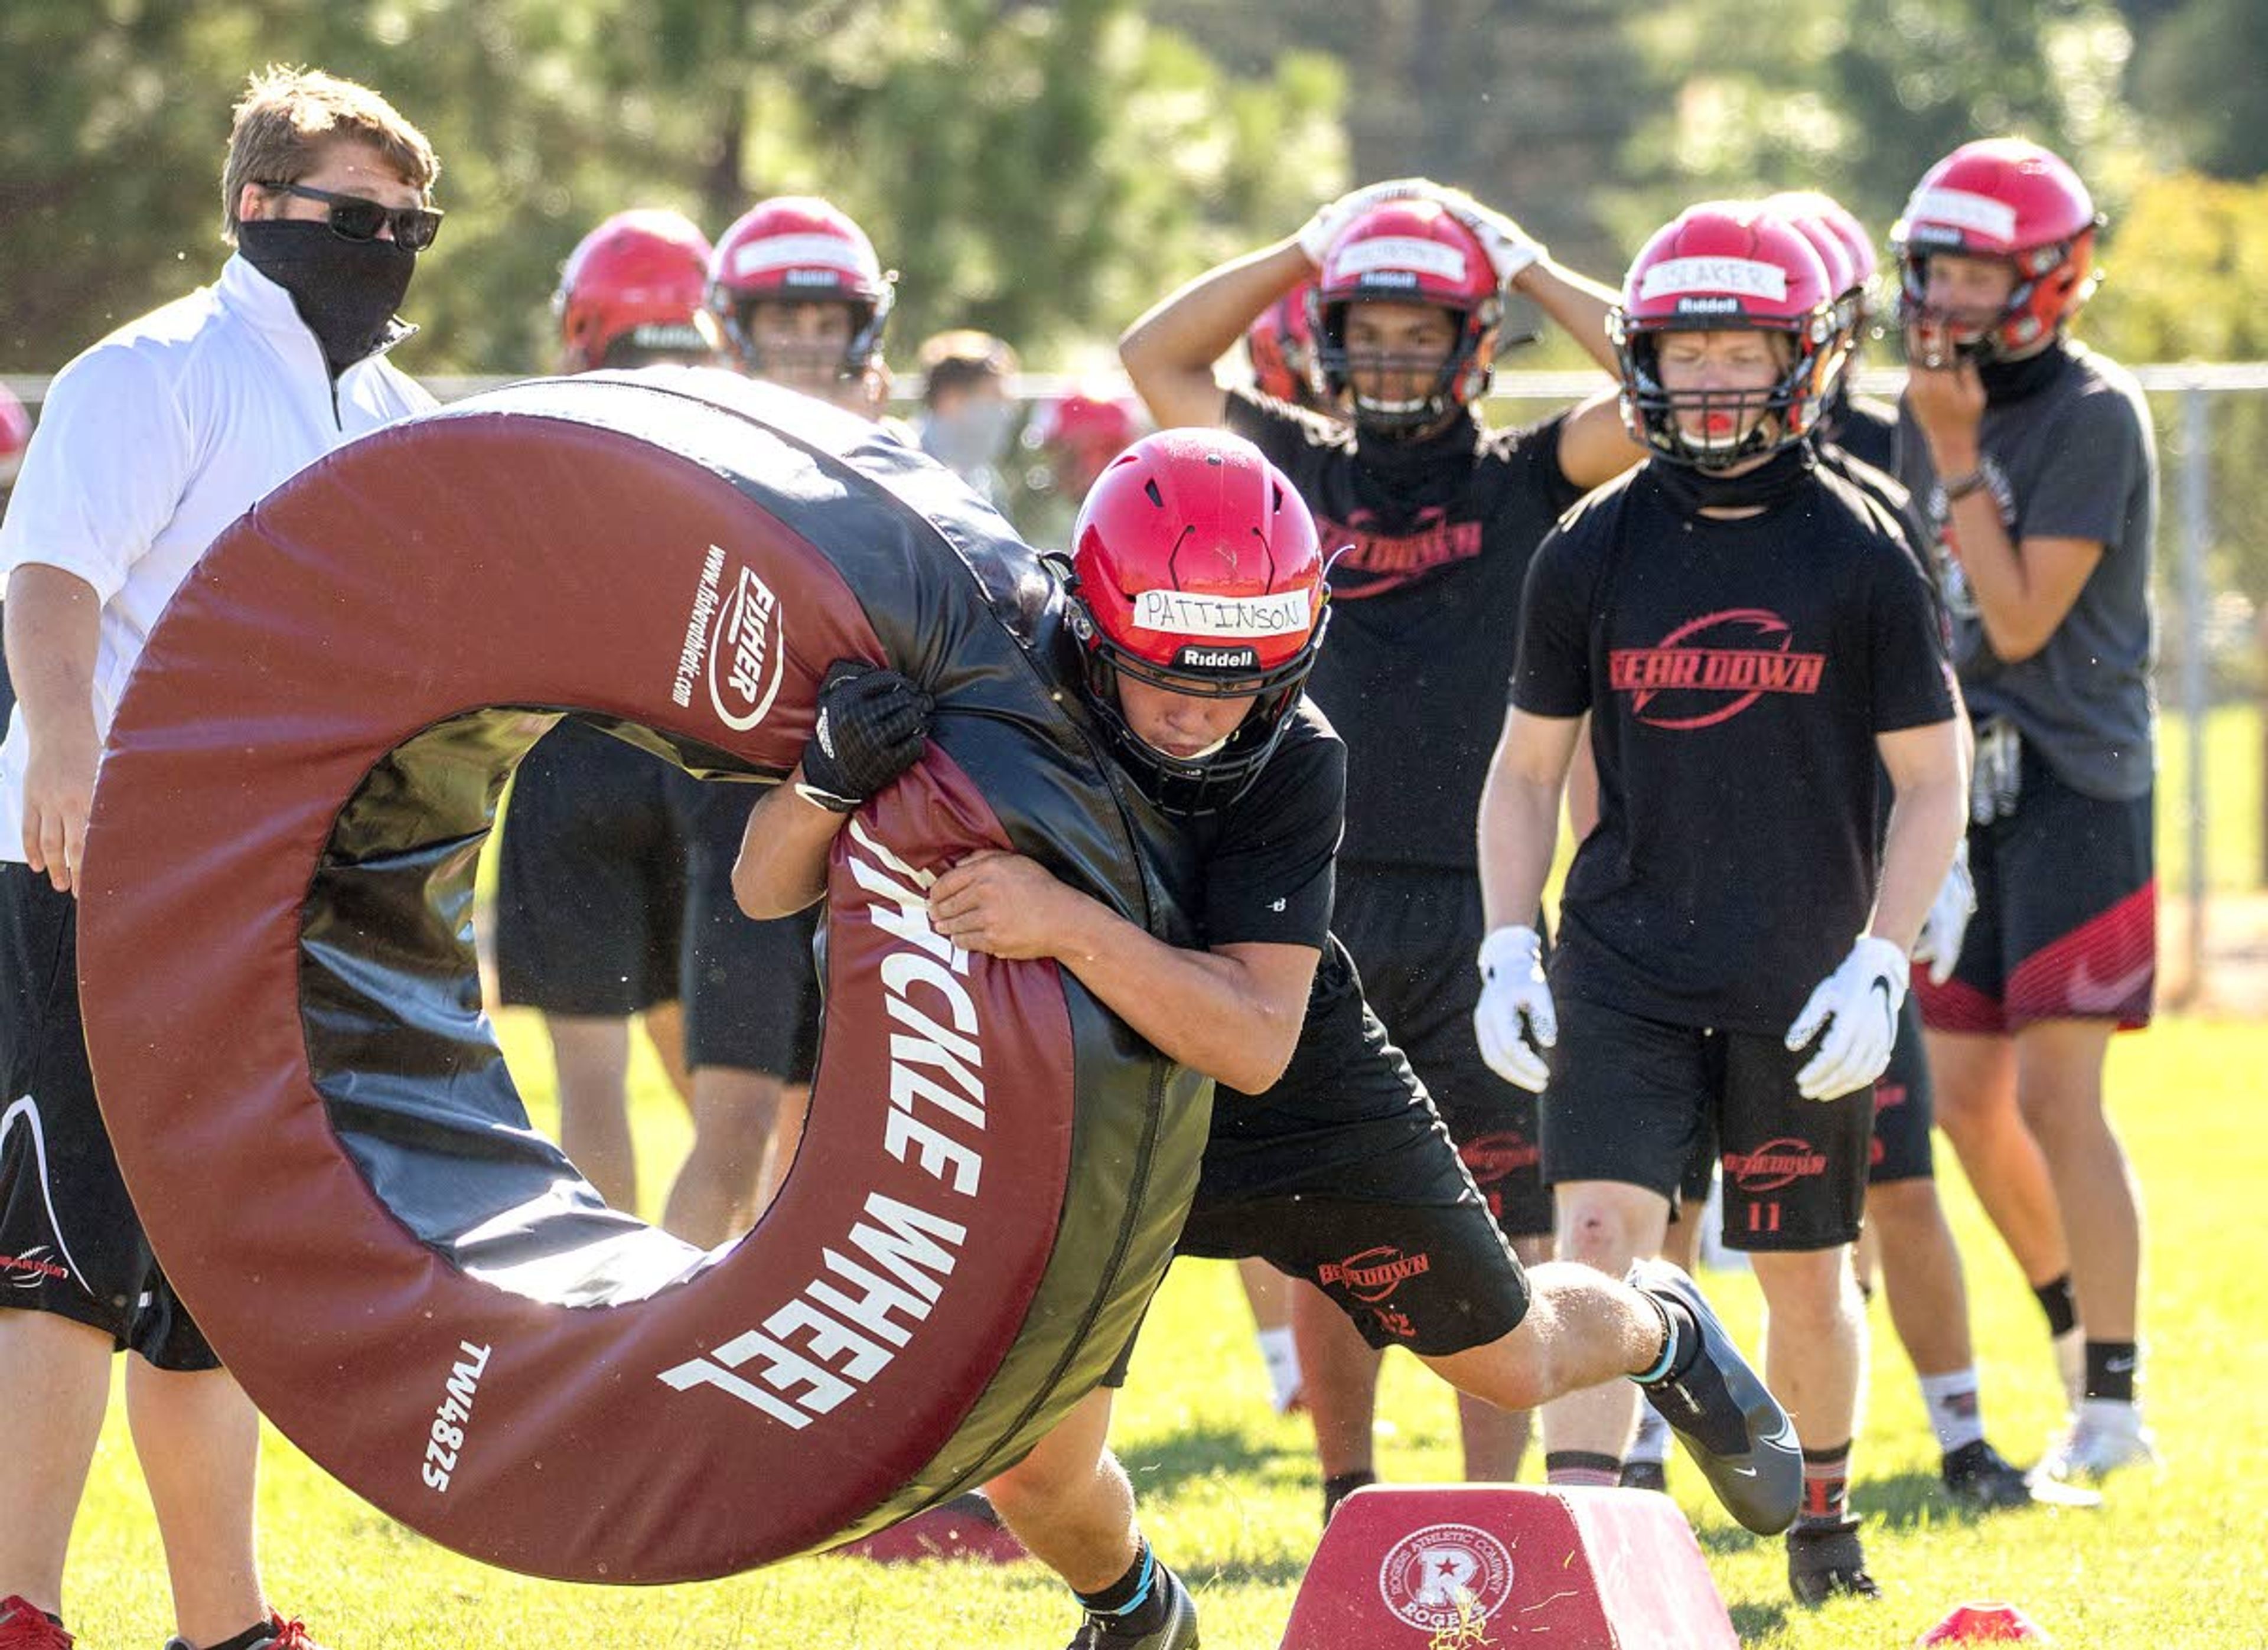
[[1656,462],[1529,571],[1513,703],[1592,712],[1599,764],[1551,981],[1776,1036],[1873,907],[1876,734],[1950,718],[1950,666],[1896,524],[1848,480],[1721,521],[1683,514]]

